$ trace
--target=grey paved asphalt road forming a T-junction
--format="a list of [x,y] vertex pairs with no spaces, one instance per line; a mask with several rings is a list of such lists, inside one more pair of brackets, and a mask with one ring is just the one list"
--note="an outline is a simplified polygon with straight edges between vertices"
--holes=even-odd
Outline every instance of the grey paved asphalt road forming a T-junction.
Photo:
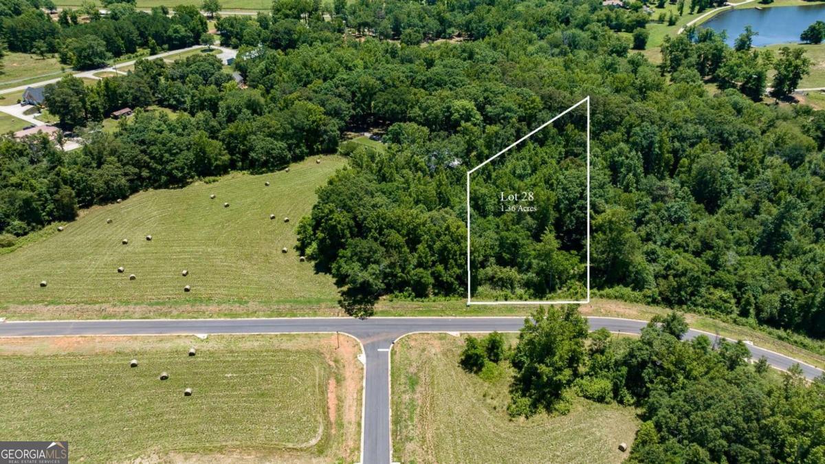
[[[640,320],[590,317],[591,329],[639,334],[647,324]],[[414,332],[515,332],[524,325],[519,317],[466,318],[351,318],[236,319],[236,320],[78,320],[5,322],[0,337],[42,335],[138,335],[138,334],[285,334],[342,332],[361,341],[366,359],[364,424],[361,461],[365,464],[391,462],[389,434],[389,349],[405,334]],[[686,339],[703,334],[691,329]],[[708,334],[711,339],[713,334]],[[748,346],[754,358],[766,357],[771,366],[787,369],[796,361],[779,353]],[[802,364],[805,376],[823,372]]]

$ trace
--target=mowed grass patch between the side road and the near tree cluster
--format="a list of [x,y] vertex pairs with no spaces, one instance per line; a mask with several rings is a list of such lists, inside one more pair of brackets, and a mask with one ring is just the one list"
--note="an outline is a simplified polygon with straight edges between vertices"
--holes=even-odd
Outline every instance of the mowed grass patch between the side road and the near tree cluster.
[[[510,336],[514,340],[515,335]],[[459,366],[463,339],[413,334],[392,353],[393,461],[621,462],[635,410],[576,400],[567,415],[507,415],[509,376],[483,380]]]

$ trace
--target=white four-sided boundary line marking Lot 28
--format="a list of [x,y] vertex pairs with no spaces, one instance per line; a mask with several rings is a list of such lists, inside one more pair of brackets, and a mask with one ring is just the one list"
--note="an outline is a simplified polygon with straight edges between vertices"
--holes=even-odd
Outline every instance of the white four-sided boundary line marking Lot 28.
[[[484,165],[493,161],[493,159],[497,159],[502,154],[507,153],[510,149],[516,147],[516,145],[521,144],[521,142],[530,138],[530,136],[534,135],[539,130],[544,129],[548,125],[553,124],[556,120],[560,117],[568,114],[568,112],[573,111],[577,107],[585,105],[587,107],[587,201],[585,204],[585,215],[586,215],[586,224],[587,224],[587,241],[585,247],[587,249],[587,298],[585,300],[579,301],[473,301],[471,284],[473,279],[473,272],[470,268],[470,206],[469,206],[469,184],[470,184],[470,176],[475,172],[478,171],[479,168],[482,168]],[[475,168],[470,169],[467,171],[467,305],[566,305],[566,304],[587,304],[590,303],[590,96],[584,97],[582,101],[577,102],[572,107],[560,112],[558,115],[554,116],[553,119],[550,121],[545,122],[544,124],[536,127],[534,130],[531,130],[529,134],[521,137],[521,139],[516,140],[512,144],[508,145],[507,148],[502,149],[502,151],[498,152],[497,154],[493,155],[490,159],[487,159],[483,163],[479,164]]]

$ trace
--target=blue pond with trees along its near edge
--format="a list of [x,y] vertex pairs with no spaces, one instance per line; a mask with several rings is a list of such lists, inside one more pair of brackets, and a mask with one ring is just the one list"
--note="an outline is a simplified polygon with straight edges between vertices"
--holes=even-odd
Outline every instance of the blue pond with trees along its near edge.
[[762,10],[734,8],[719,12],[700,26],[718,32],[728,31],[728,45],[733,45],[733,40],[742,34],[745,26],[751,26],[759,32],[758,36],[753,37],[753,45],[761,46],[799,42],[799,34],[815,21],[825,21],[825,4],[768,7]]

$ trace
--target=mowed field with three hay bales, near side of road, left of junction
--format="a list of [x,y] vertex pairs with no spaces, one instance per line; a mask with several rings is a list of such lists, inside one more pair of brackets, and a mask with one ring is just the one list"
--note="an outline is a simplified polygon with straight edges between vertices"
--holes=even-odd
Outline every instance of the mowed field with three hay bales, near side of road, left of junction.
[[312,334],[3,339],[0,436],[68,440],[72,462],[357,462],[361,348],[340,343]]

